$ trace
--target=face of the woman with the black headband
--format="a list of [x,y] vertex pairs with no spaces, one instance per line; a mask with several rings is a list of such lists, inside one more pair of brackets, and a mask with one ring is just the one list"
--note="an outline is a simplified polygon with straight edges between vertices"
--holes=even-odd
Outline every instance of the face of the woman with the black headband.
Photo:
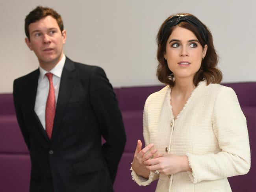
[[192,31],[176,26],[167,40],[164,54],[175,81],[184,78],[193,81],[206,51],[207,45],[202,48]]

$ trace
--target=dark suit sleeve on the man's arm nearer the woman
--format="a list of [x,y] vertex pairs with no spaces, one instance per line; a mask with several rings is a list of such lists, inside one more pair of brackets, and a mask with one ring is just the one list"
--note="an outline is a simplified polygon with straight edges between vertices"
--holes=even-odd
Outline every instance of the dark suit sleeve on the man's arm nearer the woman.
[[102,145],[102,151],[108,164],[111,180],[114,182],[126,135],[115,93],[104,70],[100,67],[95,67],[91,74],[90,98],[102,137],[106,140]]

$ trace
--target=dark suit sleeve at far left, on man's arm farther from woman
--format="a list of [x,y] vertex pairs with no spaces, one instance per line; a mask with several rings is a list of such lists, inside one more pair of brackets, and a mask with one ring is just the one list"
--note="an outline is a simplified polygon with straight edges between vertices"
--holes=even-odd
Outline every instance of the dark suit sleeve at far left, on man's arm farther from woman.
[[[15,112],[16,112],[16,117],[17,121],[21,130],[21,133],[23,135],[23,138],[26,142],[26,145],[28,147],[28,150],[30,150],[30,139],[29,139],[29,133],[26,129],[24,119],[23,119],[23,114],[21,111],[22,103],[20,102],[22,98],[20,98],[21,95],[19,95],[19,83],[17,82],[17,79],[13,82],[13,101],[14,101],[14,107],[15,107]],[[24,91],[24,90],[23,90]]]

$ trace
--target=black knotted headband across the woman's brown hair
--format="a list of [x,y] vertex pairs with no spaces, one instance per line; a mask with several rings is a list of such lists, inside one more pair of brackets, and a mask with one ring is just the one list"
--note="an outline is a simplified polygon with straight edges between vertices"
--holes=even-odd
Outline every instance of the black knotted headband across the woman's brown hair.
[[189,24],[195,26],[195,28],[197,28],[197,31],[199,32],[199,34],[201,35],[202,39],[204,40],[204,42],[208,42],[208,35],[206,32],[206,29],[204,28],[204,26],[202,26],[202,24],[195,18],[192,17],[190,15],[175,15],[173,17],[171,17],[166,23],[165,26],[163,26],[163,29],[161,31],[161,42],[163,41],[163,37],[165,36],[165,33],[168,32],[168,29],[172,28],[173,26],[176,26],[177,24],[179,24],[182,21],[186,21]]

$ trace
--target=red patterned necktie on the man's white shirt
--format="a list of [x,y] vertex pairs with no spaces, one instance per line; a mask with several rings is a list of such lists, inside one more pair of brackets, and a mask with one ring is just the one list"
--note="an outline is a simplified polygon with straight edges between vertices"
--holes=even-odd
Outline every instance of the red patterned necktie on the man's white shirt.
[[52,127],[55,116],[55,94],[52,83],[52,73],[46,73],[46,77],[49,79],[49,93],[46,102],[45,108],[45,131],[48,137],[51,139],[52,137]]

